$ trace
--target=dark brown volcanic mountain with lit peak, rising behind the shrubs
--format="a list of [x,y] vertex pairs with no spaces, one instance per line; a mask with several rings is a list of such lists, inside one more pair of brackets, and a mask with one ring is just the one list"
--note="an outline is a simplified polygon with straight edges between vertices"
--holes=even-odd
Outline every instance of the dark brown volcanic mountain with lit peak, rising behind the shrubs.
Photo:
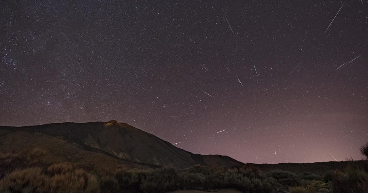
[[45,162],[70,161],[83,167],[134,168],[195,164],[231,167],[243,165],[228,156],[201,155],[185,151],[159,137],[117,121],[57,123],[37,126],[0,126],[0,149],[40,147]]

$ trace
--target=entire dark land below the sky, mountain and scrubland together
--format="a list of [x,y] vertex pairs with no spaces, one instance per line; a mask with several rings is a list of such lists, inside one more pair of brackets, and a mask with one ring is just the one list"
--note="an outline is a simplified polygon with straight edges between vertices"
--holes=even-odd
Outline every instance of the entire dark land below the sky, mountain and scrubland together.
[[367,161],[244,164],[117,121],[0,126],[1,193],[367,190]]

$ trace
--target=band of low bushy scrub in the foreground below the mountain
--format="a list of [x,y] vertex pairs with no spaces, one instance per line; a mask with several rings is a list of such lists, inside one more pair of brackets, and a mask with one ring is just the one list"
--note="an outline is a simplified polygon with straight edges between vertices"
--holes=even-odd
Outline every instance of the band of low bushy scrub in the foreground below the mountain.
[[70,162],[45,164],[38,158],[46,151],[0,153],[0,192],[5,193],[159,193],[175,190],[236,188],[242,192],[272,193],[277,188],[290,193],[364,193],[368,189],[368,162],[351,162],[345,169],[324,174],[273,169],[262,172],[254,165],[214,168],[194,165],[176,170],[128,169],[89,170]]

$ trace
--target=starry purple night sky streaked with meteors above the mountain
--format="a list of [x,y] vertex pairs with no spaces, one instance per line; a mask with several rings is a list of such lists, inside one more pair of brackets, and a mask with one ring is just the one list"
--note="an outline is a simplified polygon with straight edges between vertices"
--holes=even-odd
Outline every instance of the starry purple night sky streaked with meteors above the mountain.
[[0,19],[0,125],[115,119],[242,162],[363,157],[366,0],[18,0]]

